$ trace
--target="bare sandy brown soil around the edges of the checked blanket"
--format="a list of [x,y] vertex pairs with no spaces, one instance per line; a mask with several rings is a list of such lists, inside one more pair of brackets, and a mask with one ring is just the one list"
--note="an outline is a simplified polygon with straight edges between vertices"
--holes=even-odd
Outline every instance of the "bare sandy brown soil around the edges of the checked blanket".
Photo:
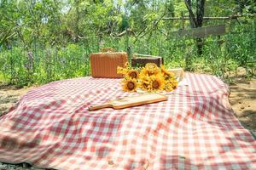
[[[246,74],[229,75],[230,104],[241,124],[256,136],[256,77],[246,78]],[[18,88],[0,84],[0,116],[32,88]],[[0,162],[0,169],[39,169],[26,164],[12,165]],[[15,167],[14,167],[15,166]],[[4,168],[5,167],[5,168]]]

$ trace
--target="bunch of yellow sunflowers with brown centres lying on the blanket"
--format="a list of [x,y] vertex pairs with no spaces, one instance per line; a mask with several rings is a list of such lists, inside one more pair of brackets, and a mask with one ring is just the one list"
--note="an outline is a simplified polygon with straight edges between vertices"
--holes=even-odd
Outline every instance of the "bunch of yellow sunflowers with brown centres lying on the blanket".
[[117,72],[125,75],[122,87],[125,92],[136,92],[138,88],[147,92],[167,91],[177,88],[177,80],[172,71],[168,71],[164,65],[158,67],[154,63],[148,63],[141,69],[132,69],[128,64],[118,67]]

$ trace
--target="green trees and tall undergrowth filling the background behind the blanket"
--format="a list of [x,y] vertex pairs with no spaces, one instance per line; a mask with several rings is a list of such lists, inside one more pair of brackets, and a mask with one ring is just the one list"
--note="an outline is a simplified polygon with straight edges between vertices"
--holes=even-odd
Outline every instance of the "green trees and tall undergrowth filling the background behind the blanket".
[[[200,0],[192,0],[193,10]],[[173,31],[189,29],[183,0],[0,0],[0,80],[18,85],[90,75],[89,56],[103,47],[128,54],[153,54],[167,67],[183,67],[224,77],[238,66],[251,71],[256,59],[256,3],[253,0],[206,0],[205,16],[242,15],[225,24],[222,37],[196,42]],[[250,73],[250,72],[248,72]]]

